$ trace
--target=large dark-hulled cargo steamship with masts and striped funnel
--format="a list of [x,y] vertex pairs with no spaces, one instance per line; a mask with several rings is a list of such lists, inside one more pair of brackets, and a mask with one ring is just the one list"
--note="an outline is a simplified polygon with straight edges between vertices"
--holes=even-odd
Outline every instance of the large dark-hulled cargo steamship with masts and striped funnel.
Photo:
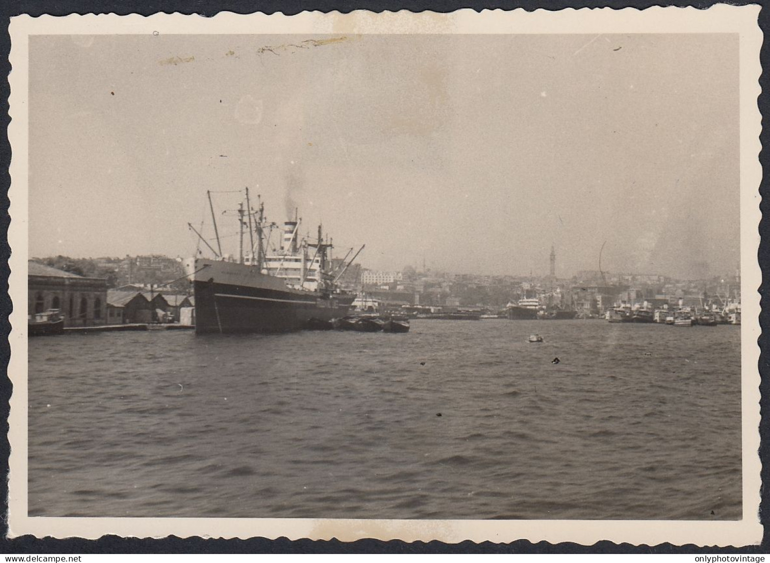
[[[337,280],[363,250],[363,246],[340,271],[330,271],[328,236],[318,227],[315,241],[300,240],[300,220],[283,224],[280,250],[268,253],[265,232],[277,228],[267,223],[264,204],[239,213],[239,254],[223,255],[211,203],[217,250],[189,225],[206,244],[214,258],[188,258],[186,275],[195,295],[196,333],[286,332],[312,328],[319,323],[348,315],[354,294],[337,287]],[[251,252],[243,252],[244,230],[248,228]],[[268,235],[269,238],[269,235]]]

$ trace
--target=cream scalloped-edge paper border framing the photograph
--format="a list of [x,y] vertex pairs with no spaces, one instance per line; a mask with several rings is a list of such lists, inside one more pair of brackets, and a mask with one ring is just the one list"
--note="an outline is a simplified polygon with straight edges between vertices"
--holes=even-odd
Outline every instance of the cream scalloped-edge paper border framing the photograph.
[[[8,241],[12,256],[9,292],[14,303],[12,331],[8,339],[11,360],[8,374],[13,383],[9,476],[9,536],[99,538],[310,538],[354,541],[439,540],[510,542],[574,541],[592,545],[609,540],[634,545],[695,544],[709,546],[755,545],[762,540],[759,523],[759,348],[758,288],[761,272],[757,262],[759,183],[762,167],[758,155],[761,115],[757,106],[762,67],[759,51],[762,32],[758,5],[715,5],[696,8],[644,10],[582,8],[526,12],[517,9],[475,12],[464,9],[450,14],[435,12],[303,12],[298,15],[20,15],[10,23],[12,72],[8,135],[12,146],[12,222]],[[742,271],[742,519],[738,521],[619,521],[619,520],[341,520],[290,518],[42,518],[27,515],[27,341],[25,335],[28,258],[28,37],[30,35],[147,35],[153,34],[615,34],[615,33],[737,33],[740,49],[740,208]]]

